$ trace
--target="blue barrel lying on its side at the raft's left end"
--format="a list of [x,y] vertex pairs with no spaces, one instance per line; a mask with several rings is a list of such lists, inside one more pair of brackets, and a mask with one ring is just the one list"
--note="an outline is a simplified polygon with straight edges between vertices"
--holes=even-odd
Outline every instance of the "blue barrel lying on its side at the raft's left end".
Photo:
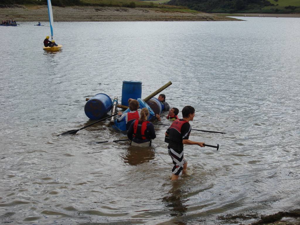
[[105,116],[112,108],[113,103],[110,97],[100,93],[87,101],[84,106],[85,115],[91,120],[98,120]]

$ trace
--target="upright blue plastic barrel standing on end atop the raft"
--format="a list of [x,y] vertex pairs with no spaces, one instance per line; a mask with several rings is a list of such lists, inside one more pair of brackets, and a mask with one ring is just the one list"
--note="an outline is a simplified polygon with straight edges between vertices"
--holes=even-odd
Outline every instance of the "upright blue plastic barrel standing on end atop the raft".
[[142,82],[137,80],[123,80],[122,101],[123,106],[128,106],[128,99],[142,98]]

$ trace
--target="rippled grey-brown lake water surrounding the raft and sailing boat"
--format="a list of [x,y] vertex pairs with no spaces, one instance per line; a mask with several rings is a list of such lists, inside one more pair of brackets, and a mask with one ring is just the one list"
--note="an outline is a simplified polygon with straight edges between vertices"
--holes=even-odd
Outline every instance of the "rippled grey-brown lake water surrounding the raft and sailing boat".
[[[233,224],[228,214],[300,208],[300,18],[236,22],[55,22],[0,27],[0,223]],[[188,176],[171,182],[166,126],[132,149],[107,122],[79,129],[85,98],[121,100],[122,81],[162,85],[196,109]],[[158,96],[156,96],[158,97]],[[181,113],[179,113],[181,117]],[[163,123],[168,123],[166,119]]]

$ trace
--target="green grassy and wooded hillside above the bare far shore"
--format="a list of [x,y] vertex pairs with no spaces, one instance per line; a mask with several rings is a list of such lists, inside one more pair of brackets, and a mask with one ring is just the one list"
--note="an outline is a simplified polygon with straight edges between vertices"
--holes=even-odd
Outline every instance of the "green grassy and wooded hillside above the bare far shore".
[[[47,4],[46,0],[0,0],[2,4]],[[143,7],[208,13],[300,13],[300,0],[52,0],[55,6]],[[159,2],[167,4],[158,4]],[[0,4],[1,7],[1,4]],[[193,10],[193,11],[191,11]]]

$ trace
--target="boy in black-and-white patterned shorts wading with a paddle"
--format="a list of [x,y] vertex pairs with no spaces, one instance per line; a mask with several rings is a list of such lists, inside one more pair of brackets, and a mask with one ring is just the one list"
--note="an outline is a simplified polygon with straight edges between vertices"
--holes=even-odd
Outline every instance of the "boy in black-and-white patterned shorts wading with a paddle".
[[166,131],[165,135],[169,137],[168,153],[174,164],[172,180],[177,180],[187,170],[187,161],[184,160],[183,156],[183,145],[199,145],[200,147],[204,147],[204,142],[189,140],[192,129],[189,121],[193,121],[194,116],[195,109],[191,106],[185,106],[182,109],[183,119],[176,119]]

